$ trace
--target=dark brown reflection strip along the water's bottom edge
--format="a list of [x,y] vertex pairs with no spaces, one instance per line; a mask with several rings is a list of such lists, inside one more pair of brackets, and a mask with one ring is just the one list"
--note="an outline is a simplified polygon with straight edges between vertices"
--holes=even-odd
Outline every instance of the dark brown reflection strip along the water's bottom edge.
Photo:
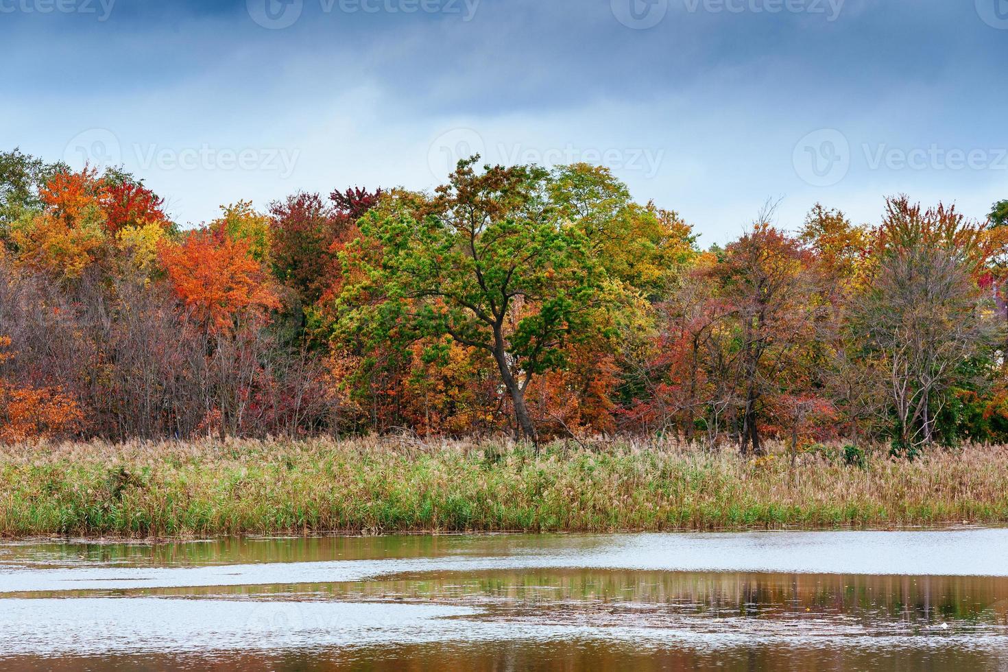
[[607,640],[505,643],[397,645],[367,649],[321,649],[279,653],[222,653],[213,658],[168,654],[156,658],[109,655],[59,659],[21,656],[3,661],[18,670],[217,670],[218,672],[267,671],[323,672],[501,672],[532,670],[569,672],[751,672],[782,670],[826,672],[846,670],[931,670],[933,672],[1004,670],[1003,652],[961,646],[892,649],[849,645],[797,648],[758,645],[719,649],[675,646],[639,646]]

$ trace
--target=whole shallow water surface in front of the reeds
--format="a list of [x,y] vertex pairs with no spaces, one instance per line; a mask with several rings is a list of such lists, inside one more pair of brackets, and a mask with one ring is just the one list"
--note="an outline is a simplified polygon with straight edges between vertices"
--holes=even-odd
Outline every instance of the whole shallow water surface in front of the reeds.
[[0,667],[1008,671],[1008,530],[5,543]]

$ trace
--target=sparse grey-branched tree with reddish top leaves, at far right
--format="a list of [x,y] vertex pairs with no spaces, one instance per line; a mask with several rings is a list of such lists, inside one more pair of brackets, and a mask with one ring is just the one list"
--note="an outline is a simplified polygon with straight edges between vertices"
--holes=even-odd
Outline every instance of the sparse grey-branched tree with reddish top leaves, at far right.
[[893,449],[915,454],[932,443],[935,422],[967,366],[992,345],[999,324],[980,287],[983,229],[956,209],[923,210],[887,199],[877,270],[853,320],[866,356],[885,372]]

